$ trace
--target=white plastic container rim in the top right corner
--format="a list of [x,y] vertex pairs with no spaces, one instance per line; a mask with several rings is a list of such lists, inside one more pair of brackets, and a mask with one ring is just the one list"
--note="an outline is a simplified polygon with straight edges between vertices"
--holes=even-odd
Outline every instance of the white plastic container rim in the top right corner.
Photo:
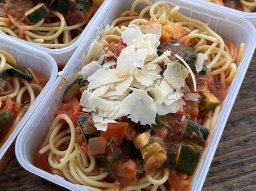
[[256,27],[256,12],[243,12],[235,9],[231,9],[229,7],[225,7],[222,5],[217,5],[216,3],[208,2],[205,0],[193,0],[197,3],[199,3],[199,6],[204,7],[204,6],[209,6],[212,7],[213,10],[219,10],[221,12],[226,12],[226,14],[232,14],[234,16],[239,16],[241,18],[245,18],[251,22],[251,24]]

